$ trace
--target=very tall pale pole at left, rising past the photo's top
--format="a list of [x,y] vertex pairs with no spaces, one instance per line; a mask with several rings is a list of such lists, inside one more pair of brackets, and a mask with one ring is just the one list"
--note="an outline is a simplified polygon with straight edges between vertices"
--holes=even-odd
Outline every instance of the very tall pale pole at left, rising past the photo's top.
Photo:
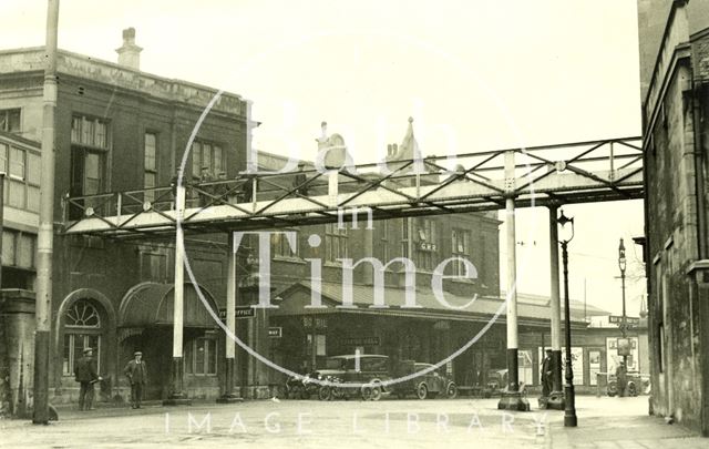
[[54,239],[54,112],[56,110],[56,35],[59,0],[48,0],[44,47],[44,111],[42,118],[42,181],[40,227],[37,235],[37,303],[34,331],[33,424],[49,422],[49,355],[52,314],[52,253]]

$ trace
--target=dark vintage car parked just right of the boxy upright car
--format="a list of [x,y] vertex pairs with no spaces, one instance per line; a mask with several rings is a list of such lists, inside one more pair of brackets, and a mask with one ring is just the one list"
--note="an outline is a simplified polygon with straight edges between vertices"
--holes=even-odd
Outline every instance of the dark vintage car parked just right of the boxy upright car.
[[413,360],[402,360],[397,370],[397,377],[421,373],[427,369],[430,371],[417,376],[410,380],[392,385],[392,390],[400,399],[409,395],[415,395],[419,399],[434,398],[442,396],[454,398],[458,396],[458,386],[449,379],[440,369],[434,369],[432,364],[415,363]]

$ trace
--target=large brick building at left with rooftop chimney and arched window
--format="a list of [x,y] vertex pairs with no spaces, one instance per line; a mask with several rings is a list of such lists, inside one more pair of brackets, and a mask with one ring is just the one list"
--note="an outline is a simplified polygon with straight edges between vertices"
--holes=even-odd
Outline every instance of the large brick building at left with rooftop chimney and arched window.
[[[86,346],[94,348],[107,397],[125,396],[122,370],[136,349],[142,349],[154,367],[148,397],[169,394],[165,378],[171,366],[174,245],[151,238],[116,242],[61,234],[61,223],[83,212],[76,204],[63,202],[65,196],[147,188],[134,194],[138,204],[174,201],[169,188],[151,188],[171,184],[197,119],[217,93],[216,89],[141,71],[135,31],[125,30],[123,38],[117,64],[63,50],[58,55],[50,360],[54,404],[74,399],[73,365]],[[0,170],[8,173],[2,328],[24,333],[10,339],[22,344],[22,364],[13,361],[17,347],[3,348],[10,363],[0,363],[10,373],[11,388],[6,397],[12,397],[7,406],[11,412],[24,400],[18,397],[17,379],[23,379],[24,390],[32,379],[31,331],[28,335],[27,328],[8,322],[16,319],[12,310],[20,302],[33,297],[41,178],[35,142],[42,129],[43,61],[43,48],[0,51]],[[197,130],[185,169],[187,182],[217,178],[222,173],[235,177],[244,170],[247,115],[242,96],[222,94]],[[100,201],[81,206],[105,207]],[[223,242],[223,237],[206,236],[186,243],[193,269],[214,307],[225,294]],[[205,319],[191,288],[185,303],[186,388],[193,395],[216,396],[216,360],[220,356],[213,331],[216,325],[210,317]]]

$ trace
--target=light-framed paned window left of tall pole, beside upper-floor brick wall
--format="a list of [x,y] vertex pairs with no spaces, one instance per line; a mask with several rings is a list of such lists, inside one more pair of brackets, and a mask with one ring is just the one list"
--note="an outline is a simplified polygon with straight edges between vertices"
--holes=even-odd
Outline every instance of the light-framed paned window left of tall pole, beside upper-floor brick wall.
[[11,207],[39,212],[40,155],[21,147],[0,144],[0,171],[6,176],[4,201]]

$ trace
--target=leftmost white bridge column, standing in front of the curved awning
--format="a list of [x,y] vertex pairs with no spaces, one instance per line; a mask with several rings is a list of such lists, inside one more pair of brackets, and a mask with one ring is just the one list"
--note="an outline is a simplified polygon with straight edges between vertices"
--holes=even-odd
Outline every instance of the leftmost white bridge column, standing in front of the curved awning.
[[[175,213],[183,217],[185,212],[185,187],[177,186],[175,198]],[[175,287],[174,287],[174,308],[173,308],[173,366],[172,366],[172,391],[167,399],[163,401],[164,406],[189,405],[192,401],[184,392],[184,360],[182,357],[183,349],[183,315],[185,299],[185,282],[184,282],[184,256],[185,241],[183,229],[177,226],[175,232]]]

